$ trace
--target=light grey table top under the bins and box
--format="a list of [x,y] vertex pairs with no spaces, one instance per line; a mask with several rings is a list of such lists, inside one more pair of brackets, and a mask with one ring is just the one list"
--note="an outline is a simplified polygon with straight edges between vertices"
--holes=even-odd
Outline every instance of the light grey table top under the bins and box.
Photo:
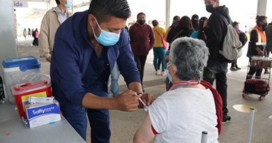
[[82,137],[61,117],[56,123],[28,128],[10,103],[0,103],[0,142],[1,143],[48,143],[66,142],[83,143]]

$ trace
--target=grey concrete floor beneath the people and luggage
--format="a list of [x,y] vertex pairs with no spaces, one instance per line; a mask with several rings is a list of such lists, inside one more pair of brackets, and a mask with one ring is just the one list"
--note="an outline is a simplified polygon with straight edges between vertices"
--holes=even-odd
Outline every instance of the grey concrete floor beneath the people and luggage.
[[[247,50],[244,48],[244,55]],[[39,57],[38,48],[31,47],[31,41],[22,41],[17,46],[18,56],[24,57],[32,55]],[[42,63],[42,72],[49,73],[50,63],[45,59],[40,59]],[[153,54],[149,53],[146,61],[144,73],[144,89],[148,93],[152,93],[155,97],[165,92],[165,77],[157,76],[153,70]],[[219,141],[222,143],[242,143],[246,141],[248,133],[248,113],[234,110],[234,105],[249,105],[255,107],[255,120],[252,132],[252,143],[271,143],[272,142],[272,97],[271,92],[262,101],[258,101],[259,96],[250,95],[248,98],[242,98],[243,82],[247,73],[248,58],[243,56],[239,59],[238,65],[241,70],[227,73],[228,82],[228,108],[232,121],[222,125],[222,134]],[[268,77],[268,75],[266,75]],[[126,89],[123,78],[119,79],[121,91]],[[110,122],[112,129],[112,143],[128,143],[133,142],[133,135],[142,119],[145,116],[144,110],[137,112],[121,112],[116,110],[110,111]],[[88,127],[87,142],[90,142],[90,128]]]

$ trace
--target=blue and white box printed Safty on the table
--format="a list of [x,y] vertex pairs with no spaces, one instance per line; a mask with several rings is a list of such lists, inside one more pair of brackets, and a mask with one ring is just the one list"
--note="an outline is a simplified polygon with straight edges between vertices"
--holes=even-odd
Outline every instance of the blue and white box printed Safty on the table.
[[36,103],[26,105],[25,110],[29,128],[61,121],[59,105],[56,103]]

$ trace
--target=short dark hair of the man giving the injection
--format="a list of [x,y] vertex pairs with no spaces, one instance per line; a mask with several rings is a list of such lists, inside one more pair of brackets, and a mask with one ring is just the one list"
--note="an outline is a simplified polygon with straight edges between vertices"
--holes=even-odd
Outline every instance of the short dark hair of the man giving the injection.
[[109,17],[118,17],[127,20],[131,15],[126,0],[92,0],[88,10],[98,22],[107,22]]

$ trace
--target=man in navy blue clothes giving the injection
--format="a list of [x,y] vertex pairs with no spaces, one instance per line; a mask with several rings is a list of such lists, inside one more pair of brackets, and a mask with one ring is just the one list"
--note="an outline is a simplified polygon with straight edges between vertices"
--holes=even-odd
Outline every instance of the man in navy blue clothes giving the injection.
[[[126,0],[93,0],[89,10],[75,13],[56,31],[50,75],[52,94],[63,116],[86,140],[86,112],[91,142],[109,142],[109,110],[135,111],[139,97],[150,105],[153,96],[142,95],[139,72],[128,40]],[[114,63],[128,91],[108,98],[107,84]],[[138,96],[139,95],[139,96]]]

